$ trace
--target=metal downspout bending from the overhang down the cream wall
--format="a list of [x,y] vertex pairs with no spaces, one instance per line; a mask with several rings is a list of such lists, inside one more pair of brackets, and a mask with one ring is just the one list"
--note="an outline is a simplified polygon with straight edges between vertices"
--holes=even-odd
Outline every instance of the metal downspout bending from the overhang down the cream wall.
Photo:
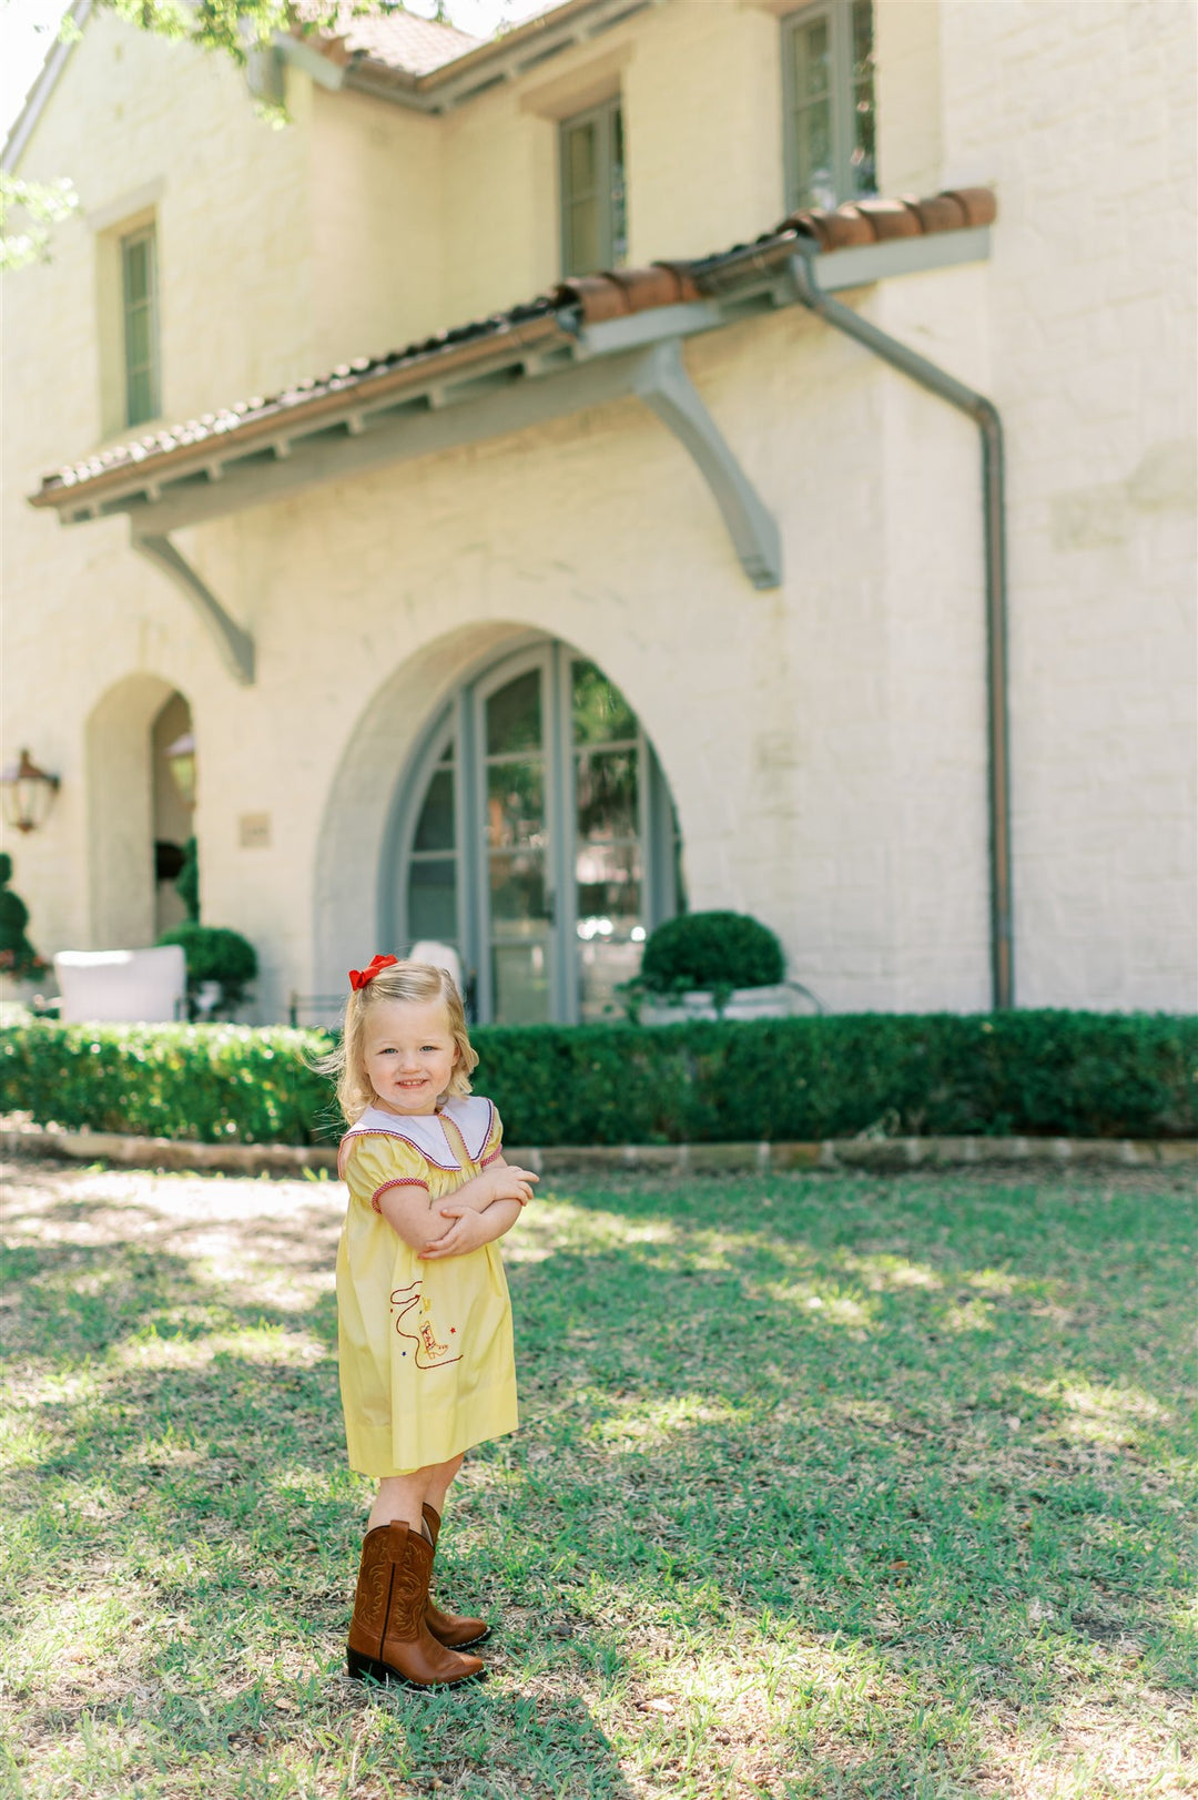
[[1011,738],[1007,724],[1007,524],[1003,500],[1003,437],[998,407],[926,356],[879,331],[868,319],[823,292],[811,266],[816,247],[791,257],[800,302],[820,319],[865,344],[894,369],[948,400],[982,434],[982,517],[985,529],[985,695],[989,727],[989,851],[991,851],[991,995],[994,1012],[1014,1006],[1014,941],[1011,895]]

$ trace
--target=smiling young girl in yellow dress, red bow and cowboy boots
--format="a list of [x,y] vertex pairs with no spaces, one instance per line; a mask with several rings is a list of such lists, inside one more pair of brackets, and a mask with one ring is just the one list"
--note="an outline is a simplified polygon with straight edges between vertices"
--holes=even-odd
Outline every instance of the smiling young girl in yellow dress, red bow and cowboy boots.
[[470,1048],[450,976],[377,956],[349,970],[328,1067],[349,1130],[349,1208],[337,1251],[340,1399],[349,1467],[378,1480],[349,1625],[355,1678],[443,1687],[483,1674],[463,1656],[481,1618],[429,1598],[432,1555],[463,1453],[517,1426],[512,1309],[499,1238],[537,1181],[508,1168],[490,1100],[470,1096]]

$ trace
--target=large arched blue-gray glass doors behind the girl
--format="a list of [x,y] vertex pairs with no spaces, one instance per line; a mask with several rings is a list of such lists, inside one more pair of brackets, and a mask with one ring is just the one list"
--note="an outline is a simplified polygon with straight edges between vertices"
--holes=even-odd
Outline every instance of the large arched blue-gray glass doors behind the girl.
[[620,689],[539,643],[463,688],[400,785],[384,920],[458,950],[479,1021],[618,1013],[681,904],[674,806]]

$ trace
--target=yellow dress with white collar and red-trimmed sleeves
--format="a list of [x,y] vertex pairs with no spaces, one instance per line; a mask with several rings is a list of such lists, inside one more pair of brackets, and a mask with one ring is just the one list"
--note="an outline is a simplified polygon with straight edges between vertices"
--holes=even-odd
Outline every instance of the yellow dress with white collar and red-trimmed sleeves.
[[499,1244],[422,1262],[378,1211],[393,1184],[441,1201],[499,1156],[490,1100],[429,1118],[371,1107],[340,1141],[349,1186],[337,1249],[340,1404],[349,1467],[377,1480],[515,1431],[512,1303]]

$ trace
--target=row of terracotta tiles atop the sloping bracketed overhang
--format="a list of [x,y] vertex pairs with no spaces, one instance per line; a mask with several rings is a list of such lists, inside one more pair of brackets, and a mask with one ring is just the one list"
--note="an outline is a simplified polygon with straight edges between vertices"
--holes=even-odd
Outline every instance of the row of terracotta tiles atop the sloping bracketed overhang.
[[[387,387],[395,387],[396,380],[393,378],[407,380],[441,356],[452,355],[456,364],[463,362],[463,355],[468,362],[485,362],[504,338],[519,353],[528,333],[539,335],[540,340],[544,340],[546,329],[553,335],[564,308],[575,308],[582,324],[593,326],[607,319],[701,299],[704,293],[748,279],[753,272],[776,268],[794,254],[794,239],[800,236],[812,238],[821,250],[834,252],[890,238],[917,238],[926,232],[989,225],[996,214],[998,205],[989,187],[960,187],[926,200],[859,200],[854,205],[836,207],[834,212],[820,209],[793,212],[773,230],[762,232],[755,243],[735,245],[731,250],[719,250],[708,257],[576,275],[560,283],[553,293],[510,306],[490,319],[476,319],[438,331],[434,337],[387,351],[382,356],[348,358],[328,374],[303,376],[277,394],[238,400],[220,412],[205,412],[198,419],[187,419],[169,430],[126,445],[113,445],[43,477],[36,500],[49,504],[65,490],[86,486],[97,475],[110,475],[132,464],[160,463],[196,445],[205,445],[209,439],[220,448],[220,439],[231,432],[245,430],[247,436],[258,437],[259,432],[254,427],[261,427],[261,436],[267,436],[276,419],[277,428],[286,430],[290,427],[288,416],[294,412],[303,412],[308,419],[322,412],[342,416],[346,394],[360,391],[362,403],[369,405],[378,392],[375,383],[386,382]],[[562,324],[558,329],[567,328]],[[477,347],[477,356],[470,353],[470,346]],[[198,461],[202,463],[202,459]]]

